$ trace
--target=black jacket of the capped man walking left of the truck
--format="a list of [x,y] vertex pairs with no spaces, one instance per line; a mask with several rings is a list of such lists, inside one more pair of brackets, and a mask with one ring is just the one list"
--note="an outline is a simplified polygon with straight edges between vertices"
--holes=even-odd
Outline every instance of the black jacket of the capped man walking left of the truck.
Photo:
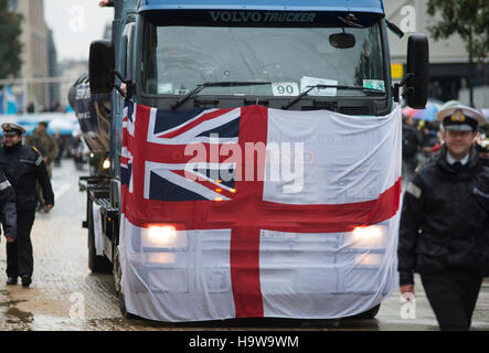
[[38,193],[35,182],[42,188],[46,205],[54,205],[54,195],[46,165],[42,157],[31,147],[19,142],[10,148],[0,148],[0,168],[13,186],[17,196],[17,212],[35,210]]

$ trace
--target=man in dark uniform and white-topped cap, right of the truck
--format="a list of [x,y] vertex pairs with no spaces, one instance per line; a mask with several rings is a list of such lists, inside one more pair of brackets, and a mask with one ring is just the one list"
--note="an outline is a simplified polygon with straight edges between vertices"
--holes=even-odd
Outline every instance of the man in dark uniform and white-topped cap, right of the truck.
[[397,249],[401,293],[414,293],[413,274],[418,272],[440,329],[468,330],[488,275],[479,248],[488,246],[489,169],[474,148],[477,126],[485,119],[461,105],[440,110],[437,119],[445,145],[404,194]]

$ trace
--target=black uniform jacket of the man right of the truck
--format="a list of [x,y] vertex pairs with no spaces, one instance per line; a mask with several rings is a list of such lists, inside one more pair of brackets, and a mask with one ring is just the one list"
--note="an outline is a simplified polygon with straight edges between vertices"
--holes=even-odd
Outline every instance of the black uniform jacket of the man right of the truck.
[[489,168],[470,151],[461,171],[446,161],[444,146],[407,185],[398,239],[400,284],[413,272],[489,270]]

